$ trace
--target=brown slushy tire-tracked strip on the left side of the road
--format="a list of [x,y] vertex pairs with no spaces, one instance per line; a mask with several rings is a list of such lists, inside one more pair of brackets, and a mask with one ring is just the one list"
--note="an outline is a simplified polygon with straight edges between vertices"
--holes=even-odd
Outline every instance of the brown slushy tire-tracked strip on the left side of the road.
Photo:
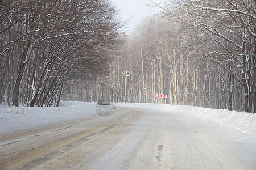
[[[119,113],[120,112],[123,112],[123,109],[119,109]],[[33,146],[26,146],[26,141],[20,142],[22,140],[19,140],[19,139],[22,139],[25,137],[22,135],[19,135],[18,140],[16,140],[15,143],[12,143],[12,144],[6,143],[6,145],[10,145],[8,146],[10,148],[10,151],[0,154],[0,158],[1,158],[0,169],[32,169],[36,165],[44,163],[47,160],[53,159],[56,156],[63,154],[64,152],[72,150],[72,148],[79,146],[80,143],[90,141],[97,135],[106,133],[107,131],[119,126],[123,122],[128,121],[133,117],[134,117],[134,113],[129,111],[126,113],[122,113],[120,116],[119,115],[115,116],[114,120],[112,120],[112,118],[109,118],[109,120],[106,122],[104,122],[104,120],[106,119],[94,117],[94,118],[90,118],[85,122],[75,121],[75,124],[73,125],[72,123],[70,123],[68,124],[68,126],[66,126],[67,124],[65,124],[65,126],[58,126],[57,129],[47,128],[47,131],[49,130],[52,133],[56,133],[55,138],[54,139],[48,138],[47,133],[45,135],[32,134],[32,136],[38,136],[38,138],[32,139],[34,140]],[[81,124],[88,124],[90,121],[95,121],[95,120],[100,121],[100,122],[96,121],[98,122],[99,126],[92,127],[88,130],[81,130],[82,129]],[[77,132],[77,130],[80,130],[80,131]],[[34,133],[35,132],[36,131],[34,131]],[[39,132],[44,133],[44,131],[42,130],[39,130]],[[67,132],[67,134],[63,136],[60,134],[60,132],[61,134],[65,134]],[[68,134],[68,133],[71,133],[71,134]],[[25,136],[27,138],[27,135]],[[43,137],[48,139],[41,141],[40,139],[42,139]],[[15,135],[14,135],[14,138],[16,139]],[[11,138],[6,137],[6,139],[10,140]],[[2,144],[2,147],[7,147],[6,145]],[[19,147],[20,149],[12,150],[11,148],[16,145],[21,146]]]

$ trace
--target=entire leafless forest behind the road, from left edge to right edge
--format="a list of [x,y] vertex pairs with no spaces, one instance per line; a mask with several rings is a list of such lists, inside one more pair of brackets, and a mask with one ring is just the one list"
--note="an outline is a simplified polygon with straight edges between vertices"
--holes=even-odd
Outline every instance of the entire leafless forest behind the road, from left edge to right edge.
[[108,97],[255,112],[255,0],[152,2],[158,14],[127,36],[108,0],[0,5],[1,103]]

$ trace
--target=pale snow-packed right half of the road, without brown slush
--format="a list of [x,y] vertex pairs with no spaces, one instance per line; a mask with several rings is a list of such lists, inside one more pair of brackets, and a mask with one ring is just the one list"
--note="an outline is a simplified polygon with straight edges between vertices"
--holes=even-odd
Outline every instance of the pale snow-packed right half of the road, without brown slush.
[[117,140],[119,142],[112,150],[98,159],[97,163],[86,163],[81,167],[255,169],[255,164],[246,160],[230,143],[216,136],[211,128],[191,120],[192,117],[147,109],[137,109],[137,112],[141,116],[123,133],[122,140]]

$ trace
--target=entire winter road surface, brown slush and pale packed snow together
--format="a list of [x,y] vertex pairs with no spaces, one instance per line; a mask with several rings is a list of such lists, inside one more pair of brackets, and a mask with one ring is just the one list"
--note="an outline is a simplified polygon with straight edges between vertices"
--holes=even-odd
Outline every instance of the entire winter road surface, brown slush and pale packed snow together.
[[0,136],[0,169],[254,169],[179,114],[115,108]]

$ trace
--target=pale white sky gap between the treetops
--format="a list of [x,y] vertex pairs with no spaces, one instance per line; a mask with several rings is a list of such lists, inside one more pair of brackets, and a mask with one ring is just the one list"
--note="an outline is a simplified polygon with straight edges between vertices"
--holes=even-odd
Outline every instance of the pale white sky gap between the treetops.
[[[163,0],[154,0],[159,3]],[[117,9],[120,10],[119,14],[124,20],[130,19],[127,24],[127,30],[133,29],[143,18],[154,14],[153,8],[145,5],[150,3],[150,0],[112,0]]]

